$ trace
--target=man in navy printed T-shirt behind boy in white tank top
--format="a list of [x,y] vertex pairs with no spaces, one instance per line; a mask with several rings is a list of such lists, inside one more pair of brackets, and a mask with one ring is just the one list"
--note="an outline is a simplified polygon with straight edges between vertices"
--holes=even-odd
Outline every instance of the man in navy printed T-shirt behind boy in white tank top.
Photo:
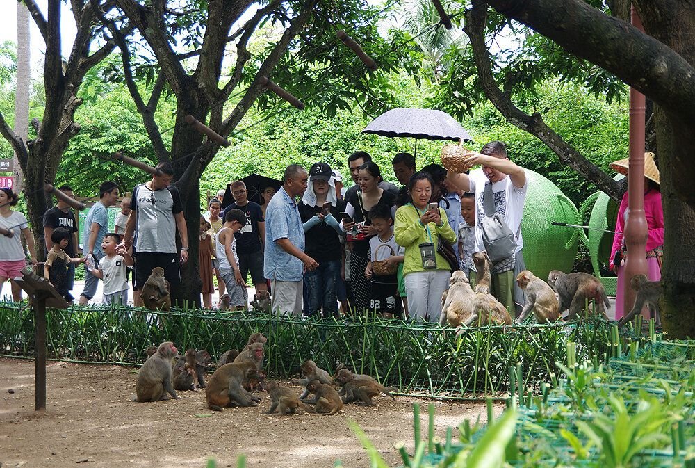
[[[234,234],[236,251],[239,257],[239,271],[246,280],[251,273],[251,281],[256,291],[268,291],[263,277],[263,245],[265,245],[265,218],[261,205],[248,199],[249,192],[243,181],[236,181],[229,187],[234,203],[224,209],[240,209],[246,215],[246,225]],[[224,214],[222,214],[224,219]]]

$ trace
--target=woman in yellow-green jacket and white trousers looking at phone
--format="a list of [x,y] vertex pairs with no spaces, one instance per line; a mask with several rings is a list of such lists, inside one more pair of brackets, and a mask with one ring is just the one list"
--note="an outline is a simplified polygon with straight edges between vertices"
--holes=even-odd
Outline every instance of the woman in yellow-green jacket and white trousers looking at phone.
[[403,275],[408,315],[414,320],[439,322],[441,295],[451,276],[449,264],[437,253],[440,237],[450,243],[456,234],[444,210],[428,210],[434,182],[427,172],[416,172],[408,190],[411,202],[395,212],[395,241],[405,248]]

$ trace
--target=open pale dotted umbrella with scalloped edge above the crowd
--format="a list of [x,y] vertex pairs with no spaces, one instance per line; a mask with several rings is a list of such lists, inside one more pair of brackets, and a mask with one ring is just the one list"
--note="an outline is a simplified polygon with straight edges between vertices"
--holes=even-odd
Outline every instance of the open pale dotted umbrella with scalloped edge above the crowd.
[[395,108],[375,118],[362,130],[363,134],[415,138],[425,140],[473,141],[464,127],[448,113],[436,109]]

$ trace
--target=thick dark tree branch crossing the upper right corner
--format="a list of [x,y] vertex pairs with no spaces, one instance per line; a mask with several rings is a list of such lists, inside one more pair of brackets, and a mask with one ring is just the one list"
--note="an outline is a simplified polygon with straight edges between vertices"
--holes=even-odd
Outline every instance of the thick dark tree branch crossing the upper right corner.
[[695,119],[695,68],[676,51],[584,0],[488,0],[681,118]]

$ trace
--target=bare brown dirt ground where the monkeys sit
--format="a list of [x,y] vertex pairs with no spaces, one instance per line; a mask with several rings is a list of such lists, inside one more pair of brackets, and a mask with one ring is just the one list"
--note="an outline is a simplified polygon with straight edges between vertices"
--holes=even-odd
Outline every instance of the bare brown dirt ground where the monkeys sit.
[[[427,400],[381,396],[372,408],[346,405],[340,414],[279,416],[258,407],[211,412],[203,392],[179,400],[133,403],[137,369],[49,362],[47,411],[34,411],[34,362],[0,358],[0,467],[368,467],[369,459],[347,427],[353,419],[390,465],[400,465],[394,444],[413,449],[412,404],[420,403],[423,437]],[[287,383],[287,382],[285,382]],[[289,384],[288,384],[289,385]],[[296,386],[295,386],[296,387]],[[296,387],[297,392],[300,388]],[[434,402],[436,435],[464,419],[486,418],[484,404]],[[496,413],[502,406],[496,407]],[[213,414],[210,417],[201,415]]]

